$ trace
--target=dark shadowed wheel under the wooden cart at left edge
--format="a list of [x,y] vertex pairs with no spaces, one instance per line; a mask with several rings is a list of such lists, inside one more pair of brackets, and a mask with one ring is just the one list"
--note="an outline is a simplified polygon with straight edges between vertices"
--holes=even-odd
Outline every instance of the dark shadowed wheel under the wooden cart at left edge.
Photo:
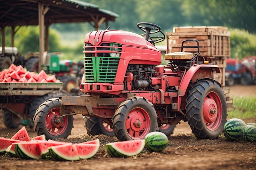
[[7,128],[15,129],[20,125],[20,118],[5,108],[2,109],[2,116],[4,126]]

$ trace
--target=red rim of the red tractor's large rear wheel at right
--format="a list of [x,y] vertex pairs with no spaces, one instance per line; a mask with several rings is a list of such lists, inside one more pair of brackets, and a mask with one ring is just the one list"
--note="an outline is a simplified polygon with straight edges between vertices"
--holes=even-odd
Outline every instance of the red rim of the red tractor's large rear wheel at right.
[[204,124],[209,130],[214,131],[218,129],[221,124],[222,104],[220,97],[214,92],[208,93],[204,98],[203,117]]

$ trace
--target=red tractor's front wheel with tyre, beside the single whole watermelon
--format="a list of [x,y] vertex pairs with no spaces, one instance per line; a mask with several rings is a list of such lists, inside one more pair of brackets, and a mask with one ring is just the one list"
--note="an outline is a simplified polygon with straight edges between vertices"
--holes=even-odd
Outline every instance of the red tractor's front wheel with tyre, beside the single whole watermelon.
[[112,117],[113,130],[120,141],[144,139],[157,130],[157,114],[144,97],[130,97],[122,102]]

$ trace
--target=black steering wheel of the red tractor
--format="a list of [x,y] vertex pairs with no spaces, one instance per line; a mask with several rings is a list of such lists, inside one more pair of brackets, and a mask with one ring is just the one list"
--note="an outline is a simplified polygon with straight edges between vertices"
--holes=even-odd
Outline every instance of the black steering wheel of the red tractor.
[[[163,31],[161,31],[161,27],[158,26],[157,24],[149,23],[149,22],[139,22],[137,24],[137,27],[144,31],[145,33],[142,34],[142,36],[145,37],[145,40],[150,42],[151,44],[155,45],[155,43],[164,41],[165,35]],[[160,32],[162,35],[161,36],[150,36],[150,34],[155,34]],[[150,40],[149,40],[150,39]]]

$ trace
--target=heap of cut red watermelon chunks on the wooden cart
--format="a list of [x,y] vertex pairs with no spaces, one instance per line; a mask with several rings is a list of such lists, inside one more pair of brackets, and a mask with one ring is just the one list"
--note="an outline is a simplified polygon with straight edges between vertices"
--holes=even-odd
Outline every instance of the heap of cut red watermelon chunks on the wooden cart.
[[11,64],[8,69],[0,72],[0,82],[60,82],[55,75],[47,75],[45,71],[38,74],[26,71],[21,65]]

